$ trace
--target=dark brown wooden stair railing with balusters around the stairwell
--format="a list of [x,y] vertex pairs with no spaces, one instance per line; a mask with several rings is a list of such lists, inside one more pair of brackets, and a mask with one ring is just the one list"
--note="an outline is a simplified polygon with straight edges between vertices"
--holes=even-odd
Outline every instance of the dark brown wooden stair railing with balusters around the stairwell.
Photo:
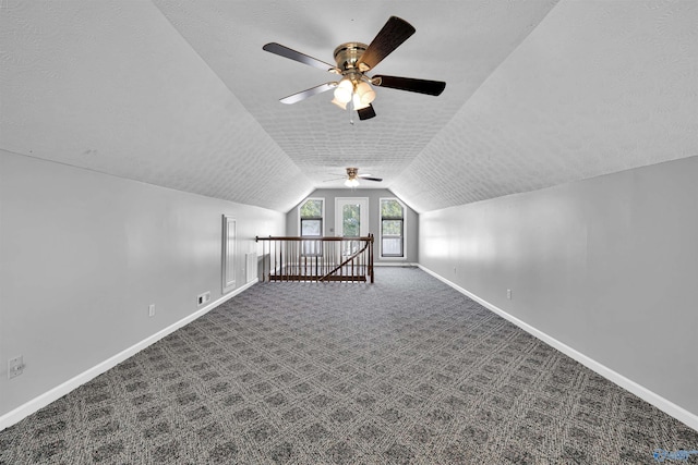
[[263,281],[374,282],[373,235],[256,237]]

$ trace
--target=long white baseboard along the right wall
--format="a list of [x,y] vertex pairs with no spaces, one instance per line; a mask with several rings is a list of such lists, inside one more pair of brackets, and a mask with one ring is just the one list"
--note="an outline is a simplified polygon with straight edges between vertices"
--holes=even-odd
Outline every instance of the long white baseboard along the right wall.
[[449,286],[452,286],[456,291],[460,292],[461,294],[465,294],[468,297],[472,298],[473,301],[476,301],[477,303],[479,303],[483,307],[488,308],[489,310],[492,310],[493,313],[497,314],[502,318],[513,322],[514,325],[516,325],[517,327],[521,328],[524,331],[528,332],[529,334],[540,339],[541,341],[543,341],[547,345],[558,350],[559,352],[562,352],[563,354],[567,355],[568,357],[574,358],[575,360],[579,362],[580,364],[582,364],[587,368],[589,368],[592,371],[594,371],[594,372],[599,374],[600,376],[604,377],[609,381],[619,386],[621,388],[625,389],[626,391],[629,391],[633,394],[637,395],[638,397],[642,399],[643,401],[654,405],[660,411],[662,411],[665,414],[667,414],[667,415],[676,418],[677,420],[686,424],[690,428],[693,428],[695,430],[698,430],[698,415],[688,412],[687,409],[685,409],[685,408],[674,404],[673,402],[662,397],[661,395],[650,391],[649,389],[645,388],[643,386],[638,384],[637,382],[633,381],[631,379],[628,379],[628,378],[624,377],[623,375],[621,375],[621,374],[612,370],[611,368],[606,367],[605,365],[600,364],[599,362],[594,360],[593,358],[590,358],[587,355],[576,351],[575,348],[573,348],[573,347],[559,342],[555,338],[552,338],[552,336],[547,335],[546,333],[544,333],[544,332],[533,328],[532,326],[528,325],[527,322],[516,318],[515,316],[507,314],[506,311],[504,311],[503,309],[498,308],[497,306],[492,305],[488,301],[485,301],[483,298],[480,298],[477,295],[472,294],[471,292],[460,287],[458,284],[456,284],[456,283],[454,283],[452,281],[448,281],[447,279],[443,278],[440,274],[436,274],[435,272],[433,272],[429,268],[425,268],[422,265],[418,265],[418,267],[421,270],[425,271],[426,273],[429,273],[429,274],[433,276],[434,278],[438,279],[440,281],[443,281],[444,283],[448,284]]

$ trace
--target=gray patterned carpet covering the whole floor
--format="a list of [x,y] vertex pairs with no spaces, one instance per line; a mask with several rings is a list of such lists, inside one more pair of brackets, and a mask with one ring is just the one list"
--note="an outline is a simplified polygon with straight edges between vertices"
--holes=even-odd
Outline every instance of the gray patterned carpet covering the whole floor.
[[0,432],[2,464],[638,464],[655,449],[698,449],[698,431],[407,268],[257,284]]

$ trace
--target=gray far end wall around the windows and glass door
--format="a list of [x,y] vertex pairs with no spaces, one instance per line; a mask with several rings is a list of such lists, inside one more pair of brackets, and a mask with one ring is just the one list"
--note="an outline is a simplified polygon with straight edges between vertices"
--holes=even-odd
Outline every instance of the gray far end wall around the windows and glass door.
[[[398,198],[390,191],[385,188],[364,188],[364,189],[350,189],[350,188],[335,188],[335,189],[316,189],[309,197],[320,197],[325,199],[325,235],[336,235],[335,228],[335,198],[337,197],[368,197],[369,198],[369,232],[375,236],[375,261],[376,262],[410,262],[416,264],[419,252],[419,216],[414,210],[405,205],[405,258],[402,260],[396,260],[395,258],[381,259],[378,256],[380,241],[380,228],[381,228],[381,198]],[[401,200],[401,199],[400,199]],[[298,230],[298,206],[302,205],[305,198],[300,201],[296,207],[286,216],[286,234],[290,236],[298,236],[300,234]],[[402,203],[405,204],[405,203]]]

